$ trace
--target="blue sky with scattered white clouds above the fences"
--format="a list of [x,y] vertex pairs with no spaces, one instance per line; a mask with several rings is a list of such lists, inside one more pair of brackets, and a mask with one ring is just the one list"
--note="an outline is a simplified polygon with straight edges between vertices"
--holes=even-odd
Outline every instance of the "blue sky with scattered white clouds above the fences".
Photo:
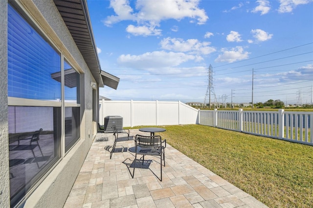
[[[313,0],[88,0],[112,100],[309,104]],[[212,90],[213,91],[213,90]],[[211,102],[214,101],[211,95]],[[208,98],[207,98],[208,100]]]

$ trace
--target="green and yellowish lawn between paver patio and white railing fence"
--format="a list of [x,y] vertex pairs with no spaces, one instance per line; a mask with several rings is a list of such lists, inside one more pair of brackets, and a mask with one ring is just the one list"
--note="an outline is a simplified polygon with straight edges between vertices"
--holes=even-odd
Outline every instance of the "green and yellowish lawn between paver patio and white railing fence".
[[268,207],[312,208],[313,146],[204,125],[159,127],[168,144]]

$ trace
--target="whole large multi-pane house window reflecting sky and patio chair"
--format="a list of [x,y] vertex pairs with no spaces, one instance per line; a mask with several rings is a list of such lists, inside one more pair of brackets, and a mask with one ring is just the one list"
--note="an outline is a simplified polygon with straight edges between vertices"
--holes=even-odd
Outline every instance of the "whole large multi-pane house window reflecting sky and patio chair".
[[61,64],[61,53],[23,17],[8,5],[12,207],[80,138],[80,74],[68,62]]

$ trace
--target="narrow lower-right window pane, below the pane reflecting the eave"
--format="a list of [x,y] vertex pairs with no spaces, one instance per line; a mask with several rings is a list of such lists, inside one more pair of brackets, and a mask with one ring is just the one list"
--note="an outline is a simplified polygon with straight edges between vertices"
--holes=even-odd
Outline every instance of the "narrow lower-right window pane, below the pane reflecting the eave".
[[80,107],[65,108],[65,151],[80,137]]

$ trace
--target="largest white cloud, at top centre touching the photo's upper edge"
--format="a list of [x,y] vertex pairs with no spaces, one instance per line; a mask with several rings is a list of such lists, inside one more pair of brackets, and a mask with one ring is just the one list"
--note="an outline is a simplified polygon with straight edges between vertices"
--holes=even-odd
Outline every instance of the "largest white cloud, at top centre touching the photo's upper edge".
[[[103,23],[111,26],[119,21],[136,21],[137,26],[128,28],[140,30],[136,35],[160,35],[161,30],[156,30],[159,22],[163,20],[182,20],[190,18],[196,20],[197,24],[204,24],[208,17],[204,9],[199,8],[200,0],[136,0],[135,8],[131,7],[130,0],[111,0],[110,7],[113,8],[115,15],[108,16]],[[135,11],[134,11],[135,10]],[[146,25],[146,26],[143,26]],[[154,30],[151,30],[151,27]],[[154,31],[149,33],[147,30]],[[156,32],[157,31],[157,32]]]

